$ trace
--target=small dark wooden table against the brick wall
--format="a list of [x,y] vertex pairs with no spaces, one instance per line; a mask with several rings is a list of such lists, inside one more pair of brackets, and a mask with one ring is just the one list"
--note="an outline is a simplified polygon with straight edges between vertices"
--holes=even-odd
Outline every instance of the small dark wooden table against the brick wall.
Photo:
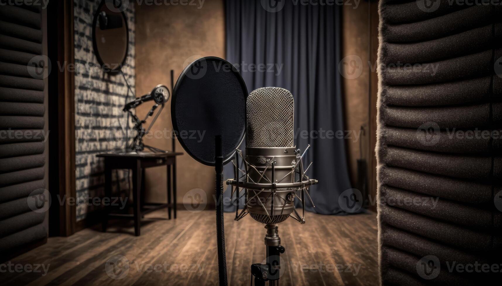
[[[113,169],[131,169],[133,171],[133,214],[110,213],[110,206],[104,206],[102,219],[103,231],[106,231],[108,218],[134,219],[134,232],[140,235],[141,218],[154,210],[167,207],[168,218],[171,219],[171,209],[176,218],[176,156],[180,152],[168,153],[102,153],[96,157],[104,158],[104,192],[105,197],[111,197],[111,171]],[[145,169],[157,166],[167,166],[167,204],[145,203]],[[171,201],[171,181],[172,196]]]

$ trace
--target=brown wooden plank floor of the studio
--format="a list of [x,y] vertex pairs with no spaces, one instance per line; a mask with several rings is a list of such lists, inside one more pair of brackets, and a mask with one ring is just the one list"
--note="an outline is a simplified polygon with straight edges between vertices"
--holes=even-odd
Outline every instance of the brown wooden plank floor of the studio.
[[[250,265],[265,259],[265,228],[249,216],[239,222],[233,216],[225,214],[228,281],[249,285]],[[281,285],[378,284],[375,214],[305,216],[304,225],[291,218],[279,224],[286,248]],[[0,272],[0,280],[4,285],[216,285],[214,211],[179,211],[176,220],[166,218],[165,210],[147,215],[139,237],[132,224],[110,221],[106,233],[96,226],[49,238],[11,260],[43,264],[46,275],[7,271]]]

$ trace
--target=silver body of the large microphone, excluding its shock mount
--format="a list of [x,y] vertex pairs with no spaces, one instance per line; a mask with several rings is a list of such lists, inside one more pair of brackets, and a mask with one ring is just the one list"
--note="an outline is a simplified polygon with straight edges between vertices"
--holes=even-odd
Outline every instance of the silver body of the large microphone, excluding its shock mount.
[[[249,179],[258,184],[293,183],[298,152],[291,92],[277,87],[254,90],[246,100],[246,119],[246,161],[258,170],[250,171]],[[295,208],[295,195],[292,188],[248,191],[249,215],[261,223],[282,222]]]

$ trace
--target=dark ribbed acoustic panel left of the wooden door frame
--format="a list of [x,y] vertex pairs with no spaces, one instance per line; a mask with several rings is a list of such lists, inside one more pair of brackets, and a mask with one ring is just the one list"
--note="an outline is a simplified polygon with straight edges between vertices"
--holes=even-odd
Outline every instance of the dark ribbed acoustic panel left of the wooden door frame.
[[[44,239],[44,80],[29,62],[42,55],[42,11],[0,6],[0,253]],[[9,133],[6,133],[9,132]],[[16,135],[17,134],[17,135]],[[21,136],[20,136],[21,135]],[[37,203],[38,200],[38,203]],[[42,202],[42,204],[40,204]]]

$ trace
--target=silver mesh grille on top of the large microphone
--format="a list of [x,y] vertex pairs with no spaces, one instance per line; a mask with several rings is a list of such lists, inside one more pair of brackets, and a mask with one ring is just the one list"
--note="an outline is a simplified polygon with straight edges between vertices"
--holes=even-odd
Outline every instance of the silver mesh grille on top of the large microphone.
[[254,90],[246,100],[246,147],[293,147],[294,101],[278,87]]

